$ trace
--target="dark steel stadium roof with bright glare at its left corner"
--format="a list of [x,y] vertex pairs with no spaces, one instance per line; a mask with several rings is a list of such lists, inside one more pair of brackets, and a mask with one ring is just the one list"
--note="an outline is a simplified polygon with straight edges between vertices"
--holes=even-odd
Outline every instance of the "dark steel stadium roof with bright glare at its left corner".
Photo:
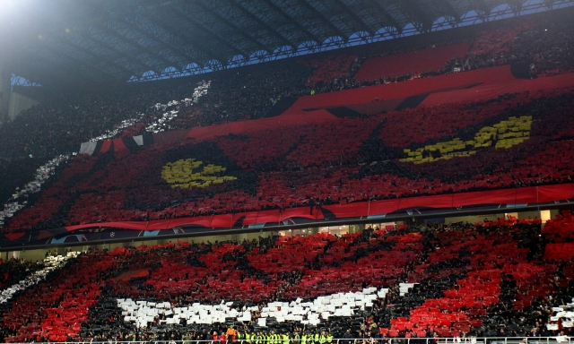
[[[203,73],[560,8],[574,0],[4,0],[0,54],[31,82]],[[2,8],[4,7],[4,8]]]

